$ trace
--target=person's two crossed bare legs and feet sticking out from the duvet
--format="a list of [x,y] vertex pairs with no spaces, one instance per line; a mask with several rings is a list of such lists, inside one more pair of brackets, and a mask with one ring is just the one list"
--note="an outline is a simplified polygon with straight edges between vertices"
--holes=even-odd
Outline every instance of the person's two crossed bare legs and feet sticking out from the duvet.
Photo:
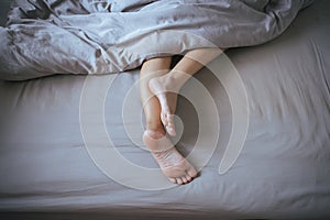
[[140,94],[146,121],[143,142],[163,174],[174,184],[187,184],[197,176],[195,167],[166,135],[176,135],[174,113],[177,94],[194,74],[220,53],[219,48],[189,51],[173,69],[169,69],[172,57],[152,58],[142,65]]

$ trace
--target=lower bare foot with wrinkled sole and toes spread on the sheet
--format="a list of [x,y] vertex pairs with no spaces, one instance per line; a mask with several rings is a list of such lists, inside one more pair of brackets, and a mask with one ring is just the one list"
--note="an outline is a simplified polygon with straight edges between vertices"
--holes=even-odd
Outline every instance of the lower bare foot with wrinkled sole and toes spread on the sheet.
[[196,169],[175,148],[162,131],[146,130],[143,142],[150,148],[163,174],[174,184],[187,184],[197,176]]

